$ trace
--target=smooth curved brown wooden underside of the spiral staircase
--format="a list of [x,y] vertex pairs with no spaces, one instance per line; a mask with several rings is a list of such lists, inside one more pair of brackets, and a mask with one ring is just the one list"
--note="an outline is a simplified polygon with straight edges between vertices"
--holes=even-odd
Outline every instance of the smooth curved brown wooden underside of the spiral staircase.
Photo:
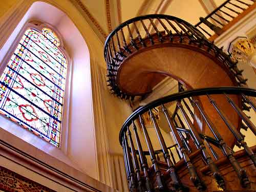
[[[166,75],[182,82],[188,89],[207,87],[238,86],[236,79],[218,59],[195,46],[166,43],[141,49],[127,57],[117,73],[117,84],[120,90],[130,95],[150,93],[154,86]],[[225,96],[212,96],[229,117],[237,129],[241,120],[234,113]],[[231,98],[240,105],[237,96]],[[201,96],[203,109],[214,122],[229,146],[234,145],[234,137],[219,114],[209,103],[208,98]],[[202,118],[199,118],[202,119]],[[212,136],[208,127],[203,126],[201,133]]]

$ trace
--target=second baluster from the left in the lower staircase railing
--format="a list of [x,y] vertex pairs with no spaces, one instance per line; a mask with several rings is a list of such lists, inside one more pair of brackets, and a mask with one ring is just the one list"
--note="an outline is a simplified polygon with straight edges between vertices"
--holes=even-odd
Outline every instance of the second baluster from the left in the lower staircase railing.
[[140,192],[144,191],[143,189],[143,185],[142,185],[142,178],[140,177],[140,167],[139,167],[139,162],[137,159],[137,155],[136,155],[136,151],[135,151],[135,147],[134,147],[134,143],[133,143],[133,138],[132,138],[132,133],[129,129],[129,126],[127,126],[127,131],[128,131],[128,138],[130,141],[130,145],[131,145],[131,150],[132,150],[132,157],[133,157],[133,164],[134,164],[134,168],[135,168],[135,174],[137,176],[137,181],[138,181],[138,189]]

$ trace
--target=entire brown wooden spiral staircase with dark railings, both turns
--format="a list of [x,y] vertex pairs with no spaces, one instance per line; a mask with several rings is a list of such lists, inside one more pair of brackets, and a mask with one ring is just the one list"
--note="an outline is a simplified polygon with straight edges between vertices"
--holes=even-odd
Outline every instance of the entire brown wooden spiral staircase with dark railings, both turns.
[[[204,33],[174,16],[145,15],[127,20],[106,39],[108,82],[121,99],[151,94],[166,77],[179,82],[179,93],[141,106],[121,127],[130,191],[256,191],[256,146],[249,147],[240,132],[242,127],[256,136],[246,115],[256,112],[256,90],[247,88],[237,61]],[[155,137],[148,134],[145,115]],[[160,124],[174,138],[172,146]],[[235,144],[243,148],[234,152]]]

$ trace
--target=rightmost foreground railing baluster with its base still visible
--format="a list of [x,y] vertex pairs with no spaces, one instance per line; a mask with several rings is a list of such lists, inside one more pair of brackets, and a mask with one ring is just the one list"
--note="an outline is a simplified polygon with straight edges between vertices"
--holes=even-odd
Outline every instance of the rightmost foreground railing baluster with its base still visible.
[[195,105],[197,106],[198,110],[200,111],[201,115],[203,116],[206,124],[208,125],[212,134],[214,134],[215,138],[219,141],[220,146],[222,148],[222,153],[229,159],[231,165],[233,166],[234,170],[236,171],[238,177],[240,178],[241,185],[243,187],[248,187],[250,185],[250,181],[246,175],[245,169],[242,168],[239,162],[234,158],[232,154],[232,150],[227,146],[225,141],[223,140],[222,136],[218,132],[217,128],[215,127],[214,123],[210,120],[207,114],[203,111],[200,103],[198,100],[194,100]]

